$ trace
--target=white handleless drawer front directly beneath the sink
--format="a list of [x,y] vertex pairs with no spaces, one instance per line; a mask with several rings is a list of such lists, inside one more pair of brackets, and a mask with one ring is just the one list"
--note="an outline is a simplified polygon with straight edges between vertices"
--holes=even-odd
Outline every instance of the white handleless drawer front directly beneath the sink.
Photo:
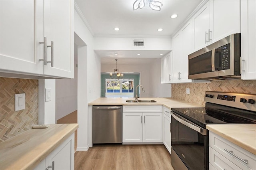
[[161,105],[123,106],[123,112],[163,112]]

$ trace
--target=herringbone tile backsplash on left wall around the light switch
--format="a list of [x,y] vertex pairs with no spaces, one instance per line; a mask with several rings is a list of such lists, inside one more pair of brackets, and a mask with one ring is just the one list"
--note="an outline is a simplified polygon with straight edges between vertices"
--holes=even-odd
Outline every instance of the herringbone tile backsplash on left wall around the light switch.
[[[14,94],[26,93],[26,109],[14,111]],[[38,80],[0,77],[0,142],[38,124]]]

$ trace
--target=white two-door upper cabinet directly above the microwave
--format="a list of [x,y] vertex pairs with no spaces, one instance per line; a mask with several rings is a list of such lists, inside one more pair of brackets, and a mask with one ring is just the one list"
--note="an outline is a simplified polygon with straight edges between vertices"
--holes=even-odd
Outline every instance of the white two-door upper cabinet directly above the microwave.
[[192,17],[192,50],[240,33],[240,0],[209,0]]

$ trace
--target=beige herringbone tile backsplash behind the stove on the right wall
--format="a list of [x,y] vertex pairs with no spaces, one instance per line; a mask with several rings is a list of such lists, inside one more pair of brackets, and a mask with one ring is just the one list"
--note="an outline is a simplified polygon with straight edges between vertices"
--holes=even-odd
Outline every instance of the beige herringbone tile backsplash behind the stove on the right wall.
[[[186,88],[190,88],[190,94],[186,94]],[[256,94],[256,80],[223,80],[211,83],[182,83],[172,84],[172,98],[198,105],[205,105],[205,91],[223,91],[232,93]]]

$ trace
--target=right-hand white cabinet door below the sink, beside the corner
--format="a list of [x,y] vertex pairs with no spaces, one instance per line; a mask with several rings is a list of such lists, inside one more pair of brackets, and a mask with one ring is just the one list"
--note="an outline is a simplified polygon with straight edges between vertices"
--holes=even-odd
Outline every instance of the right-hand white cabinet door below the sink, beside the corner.
[[163,142],[163,113],[143,113],[143,142]]

